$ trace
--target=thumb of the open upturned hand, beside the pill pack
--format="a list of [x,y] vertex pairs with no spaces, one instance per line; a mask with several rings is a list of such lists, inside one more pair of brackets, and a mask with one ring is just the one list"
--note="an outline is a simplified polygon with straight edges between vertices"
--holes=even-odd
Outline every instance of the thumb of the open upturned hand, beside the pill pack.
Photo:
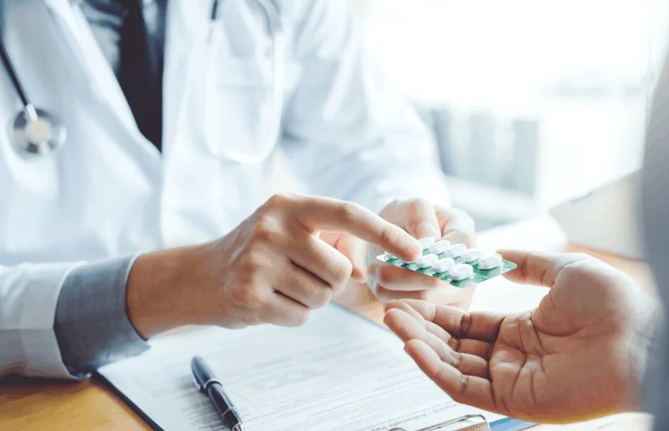
[[514,271],[504,274],[504,277],[514,283],[532,284],[550,288],[555,282],[557,274],[566,263],[565,255],[540,253],[521,250],[499,250],[499,254],[509,262],[518,265]]

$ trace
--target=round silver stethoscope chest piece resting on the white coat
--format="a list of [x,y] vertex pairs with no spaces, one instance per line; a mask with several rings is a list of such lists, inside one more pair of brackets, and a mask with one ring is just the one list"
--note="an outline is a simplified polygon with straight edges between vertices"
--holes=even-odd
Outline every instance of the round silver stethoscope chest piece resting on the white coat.
[[14,120],[13,132],[16,145],[27,153],[48,155],[58,150],[67,139],[65,125],[42,109],[32,108],[19,112]]

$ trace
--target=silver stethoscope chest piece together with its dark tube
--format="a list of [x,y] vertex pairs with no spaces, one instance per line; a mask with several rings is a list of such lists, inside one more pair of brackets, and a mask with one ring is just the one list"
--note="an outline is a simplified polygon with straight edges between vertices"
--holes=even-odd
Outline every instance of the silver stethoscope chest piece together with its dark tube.
[[23,85],[16,75],[14,65],[9,58],[4,38],[0,36],[0,56],[5,70],[14,86],[16,94],[23,103],[23,110],[14,120],[12,132],[14,143],[20,150],[33,155],[48,155],[58,150],[65,143],[68,129],[50,112],[35,108],[25,94]]

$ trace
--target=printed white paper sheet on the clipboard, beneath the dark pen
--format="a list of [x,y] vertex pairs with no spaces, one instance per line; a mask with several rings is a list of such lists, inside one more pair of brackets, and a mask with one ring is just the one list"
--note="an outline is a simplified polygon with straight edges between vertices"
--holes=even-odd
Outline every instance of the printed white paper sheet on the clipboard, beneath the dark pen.
[[[163,335],[141,356],[98,372],[163,430],[225,430],[193,385],[199,354],[250,431],[383,431],[466,414],[404,353],[390,331],[330,305],[300,328],[196,328]],[[452,429],[457,429],[453,427]]]

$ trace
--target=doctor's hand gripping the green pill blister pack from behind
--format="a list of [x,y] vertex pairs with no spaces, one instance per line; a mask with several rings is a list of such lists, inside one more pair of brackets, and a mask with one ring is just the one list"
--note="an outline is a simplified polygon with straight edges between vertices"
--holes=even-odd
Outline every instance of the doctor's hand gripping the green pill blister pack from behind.
[[[422,199],[391,202],[383,209],[381,217],[400,226],[414,238],[431,236],[437,240],[449,240],[453,244],[463,243],[468,247],[473,246],[476,240],[474,222],[464,211],[435,206]],[[474,286],[454,288],[438,278],[384,264],[376,259],[383,251],[390,250],[369,247],[367,257],[367,284],[379,300],[387,302],[411,298],[469,308]]]

